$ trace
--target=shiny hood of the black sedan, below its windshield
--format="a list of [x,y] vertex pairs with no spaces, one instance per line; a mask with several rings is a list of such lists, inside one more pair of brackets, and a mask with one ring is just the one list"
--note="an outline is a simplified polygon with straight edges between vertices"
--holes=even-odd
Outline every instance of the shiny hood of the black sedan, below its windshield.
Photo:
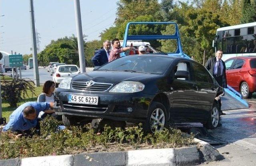
[[72,81],[89,81],[104,82],[117,84],[122,81],[141,81],[147,78],[159,77],[157,74],[144,74],[136,72],[116,72],[116,71],[92,71],[81,73],[73,76]]

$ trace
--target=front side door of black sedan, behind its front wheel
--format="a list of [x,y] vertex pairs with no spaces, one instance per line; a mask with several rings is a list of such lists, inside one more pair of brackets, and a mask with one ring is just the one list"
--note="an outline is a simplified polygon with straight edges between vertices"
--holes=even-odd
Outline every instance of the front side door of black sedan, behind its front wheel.
[[[186,79],[174,78],[177,70],[185,70],[189,72],[189,77]],[[172,72],[173,82],[170,89],[173,90],[172,99],[172,114],[171,116],[177,120],[191,120],[191,115],[197,107],[197,85],[192,80],[192,72],[190,62],[182,60],[178,62]]]

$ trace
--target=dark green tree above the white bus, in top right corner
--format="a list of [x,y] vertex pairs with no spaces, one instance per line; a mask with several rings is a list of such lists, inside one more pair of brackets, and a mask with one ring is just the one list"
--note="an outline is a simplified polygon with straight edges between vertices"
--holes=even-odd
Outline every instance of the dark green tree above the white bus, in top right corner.
[[242,18],[241,23],[249,23],[249,22],[255,22],[256,21],[256,4],[251,3],[250,0],[244,0],[243,1],[243,7],[242,7]]

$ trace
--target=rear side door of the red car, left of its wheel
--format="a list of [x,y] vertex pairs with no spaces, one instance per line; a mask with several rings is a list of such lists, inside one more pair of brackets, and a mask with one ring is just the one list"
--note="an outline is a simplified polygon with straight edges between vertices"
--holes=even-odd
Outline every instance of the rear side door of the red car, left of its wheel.
[[235,90],[239,91],[240,82],[242,80],[242,66],[244,65],[245,60],[236,58],[232,68],[228,70],[230,86]]

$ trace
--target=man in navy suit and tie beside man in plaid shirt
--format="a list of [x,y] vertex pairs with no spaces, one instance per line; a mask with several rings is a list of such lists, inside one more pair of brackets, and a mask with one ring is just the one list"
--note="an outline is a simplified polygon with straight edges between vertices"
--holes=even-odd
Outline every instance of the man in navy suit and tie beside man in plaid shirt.
[[103,48],[100,50],[97,50],[95,55],[92,57],[92,63],[94,64],[94,67],[102,66],[108,63],[110,47],[111,47],[111,43],[109,40],[106,40],[103,42]]

